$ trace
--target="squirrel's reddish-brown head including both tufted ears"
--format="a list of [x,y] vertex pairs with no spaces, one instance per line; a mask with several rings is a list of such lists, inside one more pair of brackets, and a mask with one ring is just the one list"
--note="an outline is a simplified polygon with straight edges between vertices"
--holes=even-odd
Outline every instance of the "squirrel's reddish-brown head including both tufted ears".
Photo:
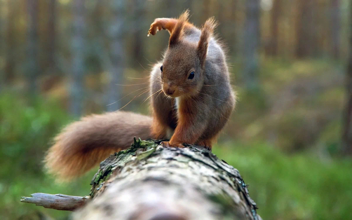
[[199,42],[192,43],[183,37],[188,16],[189,12],[186,11],[178,19],[160,66],[162,89],[170,97],[195,95],[204,83],[208,42],[216,24],[213,18],[208,19],[202,27]]

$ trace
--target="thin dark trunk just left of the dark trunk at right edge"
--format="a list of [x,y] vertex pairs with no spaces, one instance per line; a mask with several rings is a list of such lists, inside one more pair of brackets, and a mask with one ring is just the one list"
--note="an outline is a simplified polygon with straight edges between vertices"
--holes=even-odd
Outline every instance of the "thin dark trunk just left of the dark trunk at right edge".
[[331,0],[331,47],[332,54],[335,59],[339,58],[340,54],[340,1]]

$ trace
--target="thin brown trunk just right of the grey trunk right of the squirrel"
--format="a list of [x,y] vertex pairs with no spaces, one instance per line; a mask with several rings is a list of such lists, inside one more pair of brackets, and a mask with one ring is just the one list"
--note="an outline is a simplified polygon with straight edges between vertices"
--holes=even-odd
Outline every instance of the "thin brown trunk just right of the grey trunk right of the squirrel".
[[271,38],[271,46],[270,46],[270,55],[277,56],[278,55],[278,44],[279,44],[279,17],[281,13],[281,0],[274,0],[273,8],[272,8],[272,38]]

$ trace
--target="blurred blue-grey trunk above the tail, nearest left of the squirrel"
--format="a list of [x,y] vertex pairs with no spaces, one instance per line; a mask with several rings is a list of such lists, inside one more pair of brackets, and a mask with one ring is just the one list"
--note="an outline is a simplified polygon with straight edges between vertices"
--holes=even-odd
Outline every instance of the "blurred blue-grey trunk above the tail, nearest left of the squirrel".
[[[122,94],[121,86],[125,69],[125,46],[124,46],[124,31],[125,31],[125,16],[126,16],[126,1],[108,0],[110,9],[109,21],[105,30],[109,42],[109,58],[110,69],[108,70],[108,85],[106,87],[106,105],[107,111],[116,111],[121,108],[120,98]],[[112,104],[114,103],[114,104]]]

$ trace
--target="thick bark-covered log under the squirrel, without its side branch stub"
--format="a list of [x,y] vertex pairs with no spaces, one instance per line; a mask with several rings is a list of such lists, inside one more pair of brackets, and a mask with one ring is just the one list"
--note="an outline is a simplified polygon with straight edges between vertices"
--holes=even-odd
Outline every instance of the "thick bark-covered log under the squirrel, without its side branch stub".
[[101,163],[74,219],[260,219],[240,174],[198,146],[134,140]]

